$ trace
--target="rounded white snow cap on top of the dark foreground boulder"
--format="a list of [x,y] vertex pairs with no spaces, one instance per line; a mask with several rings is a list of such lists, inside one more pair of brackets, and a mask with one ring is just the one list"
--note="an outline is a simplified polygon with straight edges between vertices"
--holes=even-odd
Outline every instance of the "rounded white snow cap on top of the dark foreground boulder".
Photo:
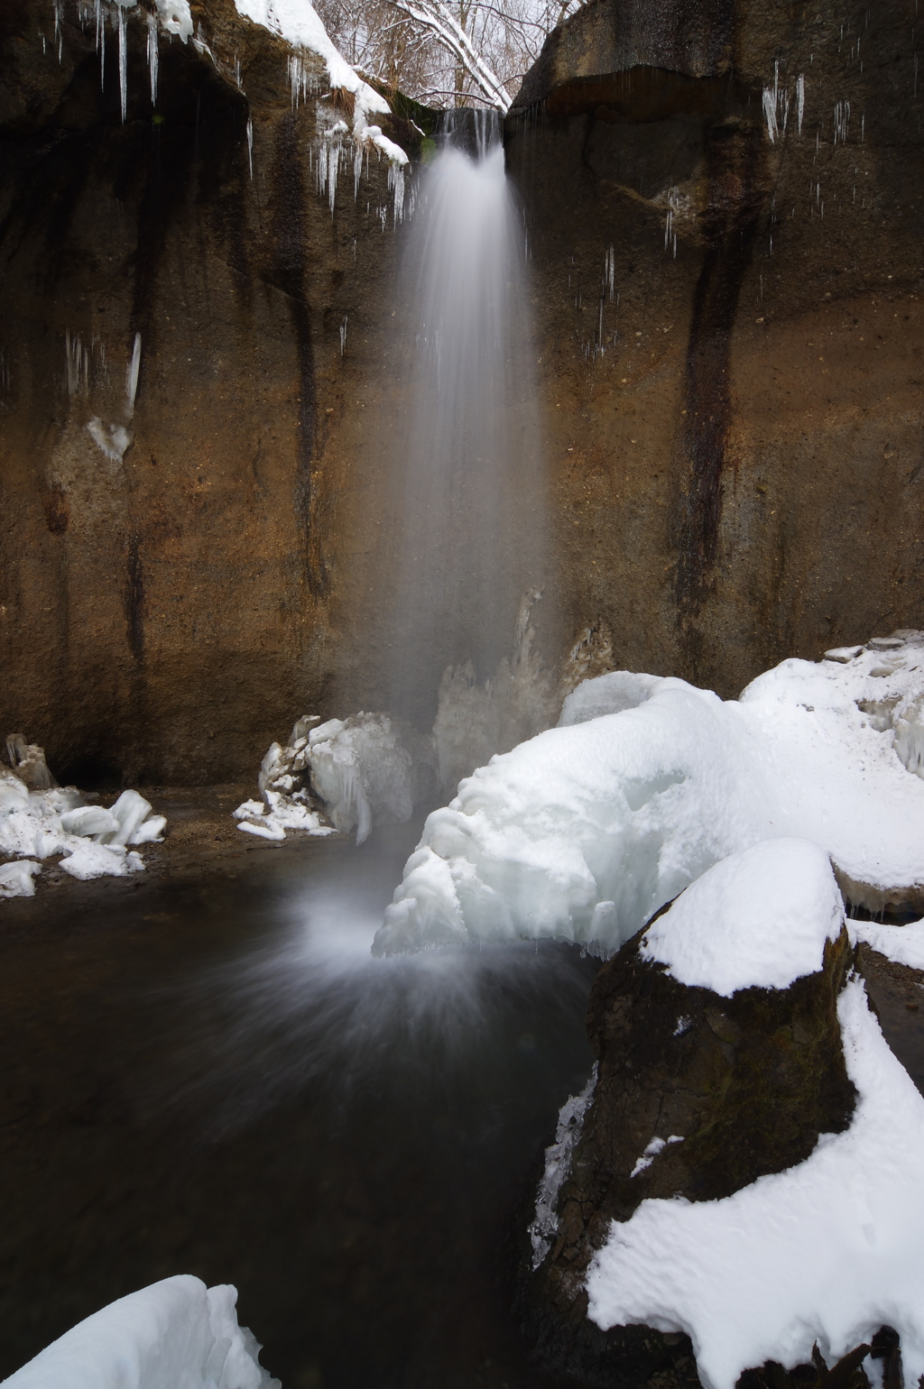
[[788,989],[824,964],[843,925],[828,856],[805,839],[764,839],[723,858],[660,915],[641,956],[688,988],[729,999],[738,989]]

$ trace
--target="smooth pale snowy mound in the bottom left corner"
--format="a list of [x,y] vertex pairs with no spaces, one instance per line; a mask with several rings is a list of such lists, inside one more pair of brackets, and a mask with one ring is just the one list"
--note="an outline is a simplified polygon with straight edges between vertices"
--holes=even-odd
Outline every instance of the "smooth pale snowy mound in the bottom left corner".
[[238,1289],[192,1274],[129,1293],[72,1326],[11,1389],[279,1389],[260,1346],[238,1325]]

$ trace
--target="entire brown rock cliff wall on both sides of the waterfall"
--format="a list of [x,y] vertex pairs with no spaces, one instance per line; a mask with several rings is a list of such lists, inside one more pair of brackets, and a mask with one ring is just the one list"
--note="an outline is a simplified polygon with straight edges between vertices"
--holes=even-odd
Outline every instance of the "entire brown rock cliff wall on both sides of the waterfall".
[[[346,146],[331,207],[320,61],[293,92],[200,0],[151,106],[142,4],[122,119],[103,13],[103,61],[88,4],[0,15],[0,717],[64,779],[206,782],[388,701],[402,225]],[[593,0],[550,38],[506,135],[549,660],[602,619],[616,665],[732,694],[917,622],[914,42],[903,0]]]

